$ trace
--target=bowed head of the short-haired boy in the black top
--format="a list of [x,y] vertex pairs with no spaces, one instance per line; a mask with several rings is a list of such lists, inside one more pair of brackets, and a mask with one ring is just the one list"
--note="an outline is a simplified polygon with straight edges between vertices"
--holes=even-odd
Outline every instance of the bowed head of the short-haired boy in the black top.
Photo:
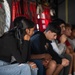
[[58,32],[59,32],[59,28],[56,26],[54,22],[51,22],[48,24],[44,33],[48,40],[54,40],[57,38]]

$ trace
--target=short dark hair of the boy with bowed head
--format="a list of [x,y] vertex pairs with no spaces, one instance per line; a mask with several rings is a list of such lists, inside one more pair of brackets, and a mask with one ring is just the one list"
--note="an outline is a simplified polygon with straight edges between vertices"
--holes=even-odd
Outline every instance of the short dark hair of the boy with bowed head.
[[49,30],[52,32],[55,32],[57,34],[59,33],[59,28],[57,27],[56,23],[54,23],[54,22],[49,23],[45,31],[47,32]]

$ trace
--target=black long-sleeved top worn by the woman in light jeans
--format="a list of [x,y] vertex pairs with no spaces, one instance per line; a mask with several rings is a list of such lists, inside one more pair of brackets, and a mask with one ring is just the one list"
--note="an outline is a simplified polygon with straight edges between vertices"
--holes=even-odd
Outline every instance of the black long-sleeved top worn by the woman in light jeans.
[[11,33],[7,33],[0,37],[0,60],[10,62],[11,56],[14,56],[18,63],[27,62],[30,55],[30,41],[22,43],[22,50],[19,50],[17,39]]

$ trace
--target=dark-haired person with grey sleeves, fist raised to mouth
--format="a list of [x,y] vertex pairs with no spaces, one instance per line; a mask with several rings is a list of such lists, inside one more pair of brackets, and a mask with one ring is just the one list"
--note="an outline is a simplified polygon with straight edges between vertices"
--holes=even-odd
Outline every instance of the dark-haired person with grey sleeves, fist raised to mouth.
[[[65,54],[66,52],[66,45],[65,45],[65,41],[67,40],[66,35],[64,35],[65,32],[65,22],[62,19],[55,19],[53,20],[53,22],[57,25],[57,27],[59,28],[59,33],[58,33],[58,38],[57,40],[52,41],[52,47],[54,49],[54,51],[62,58],[66,58],[69,61],[71,61],[71,56],[68,54]],[[65,72],[66,71],[66,72]],[[68,75],[70,74],[72,71],[72,66],[69,65],[67,67],[65,67],[60,75]]]

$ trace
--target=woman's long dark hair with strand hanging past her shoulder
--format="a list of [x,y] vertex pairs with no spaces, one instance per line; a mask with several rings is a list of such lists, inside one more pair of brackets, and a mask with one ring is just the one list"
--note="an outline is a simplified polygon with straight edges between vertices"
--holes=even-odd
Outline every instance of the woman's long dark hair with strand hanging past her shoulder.
[[18,47],[21,47],[23,37],[26,34],[25,30],[27,28],[28,29],[33,28],[35,25],[31,20],[26,19],[25,17],[22,16],[15,18],[13,24],[14,24],[13,28],[14,34],[16,39],[18,40]]

